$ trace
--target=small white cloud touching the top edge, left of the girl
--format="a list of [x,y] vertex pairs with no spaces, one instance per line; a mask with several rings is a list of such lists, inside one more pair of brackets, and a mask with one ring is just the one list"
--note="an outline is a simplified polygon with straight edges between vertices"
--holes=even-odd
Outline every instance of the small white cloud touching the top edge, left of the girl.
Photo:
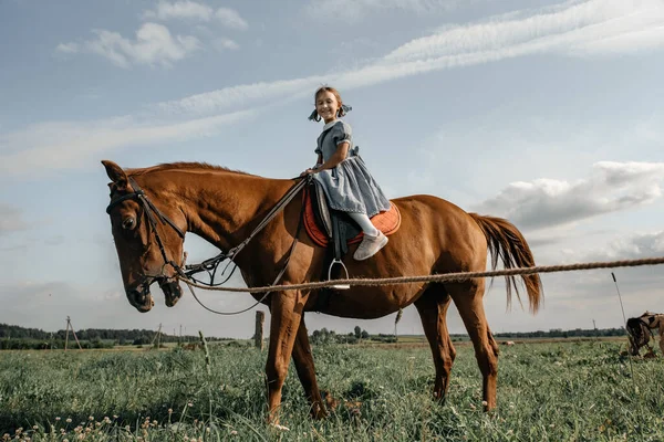
[[198,3],[195,1],[159,1],[156,10],[148,10],[143,12],[143,18],[148,20],[195,20],[209,22],[217,20],[219,23],[227,28],[246,30],[249,24],[240,14],[230,8],[218,8],[217,10],[210,8],[205,3]]

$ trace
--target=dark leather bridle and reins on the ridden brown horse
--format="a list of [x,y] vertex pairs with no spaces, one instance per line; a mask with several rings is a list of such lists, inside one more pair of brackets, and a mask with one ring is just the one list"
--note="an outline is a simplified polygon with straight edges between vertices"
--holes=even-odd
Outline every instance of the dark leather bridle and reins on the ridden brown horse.
[[[185,232],[183,232],[175,224],[175,222],[173,222],[173,220],[170,220],[167,215],[165,215],[164,213],[162,213],[162,211],[149,200],[149,198],[147,197],[147,194],[145,193],[145,191],[143,189],[141,189],[141,187],[136,183],[136,181],[133,178],[129,177],[128,178],[128,182],[132,186],[132,188],[134,189],[134,191],[125,193],[125,194],[123,194],[121,197],[117,197],[115,199],[112,199],[111,202],[108,203],[108,206],[106,207],[106,213],[111,214],[111,211],[115,207],[117,207],[120,203],[122,203],[124,201],[127,201],[127,200],[135,200],[136,202],[138,202],[138,204],[143,209],[143,211],[145,212],[146,218],[147,218],[147,220],[149,222],[149,225],[151,225],[153,232],[155,233],[155,240],[157,242],[159,251],[162,252],[162,257],[164,259],[164,264],[162,265],[160,274],[158,274],[158,275],[146,275],[148,278],[151,278],[152,281],[158,281],[159,284],[162,284],[163,282],[170,282],[170,281],[173,281],[174,277],[167,276],[166,274],[164,274],[165,267],[167,265],[170,265],[176,271],[176,273],[177,273],[177,276],[175,278],[179,278],[179,280],[184,281],[185,283],[187,283],[187,282],[196,282],[196,283],[205,284],[205,285],[208,285],[208,286],[212,287],[212,286],[218,286],[218,285],[221,285],[221,284],[226,283],[232,276],[232,274],[235,273],[235,271],[237,269],[237,264],[236,264],[234,266],[232,271],[230,272],[230,274],[222,282],[215,283],[215,276],[217,274],[217,270],[219,267],[219,264],[221,262],[226,261],[226,260],[229,260],[228,264],[226,265],[226,267],[221,272],[221,275],[224,275],[224,273],[226,273],[226,269],[228,269],[228,265],[230,265],[230,263],[235,264],[234,259],[237,256],[237,254],[240,253],[240,251],[242,249],[245,249],[245,246],[247,246],[247,244],[249,244],[249,242],[279,212],[281,212],[286,208],[286,206],[288,206],[288,203],[298,194],[298,192],[300,190],[302,190],[312,180],[313,180],[313,177],[311,175],[304,177],[303,179],[299,179],[298,182],[295,185],[293,185],[283,194],[283,197],[281,197],[281,199],[268,212],[268,214],[263,218],[263,220],[253,229],[253,231],[247,236],[247,239],[245,239],[242,242],[240,242],[235,248],[231,248],[227,252],[222,251],[217,256],[214,256],[214,257],[210,257],[208,260],[205,260],[200,264],[185,265],[185,263],[184,263],[185,262],[185,256],[183,256],[183,264],[181,265],[178,264],[178,263],[176,263],[175,261],[168,259],[168,255],[166,254],[166,249],[164,248],[164,241],[159,236],[159,231],[157,229],[157,223],[160,222],[162,224],[166,224],[166,225],[169,225],[170,228],[173,228],[173,230],[175,230],[175,232],[180,236],[180,239],[183,241],[185,240]],[[293,238],[293,243],[292,243],[292,245],[290,248],[290,251],[289,251],[288,256],[286,259],[286,262],[283,264],[283,269],[278,273],[277,278],[272,283],[272,285],[276,285],[281,280],[281,277],[286,273],[286,270],[288,269],[288,264],[290,262],[290,257],[291,257],[292,252],[294,251],[295,245],[298,243],[298,236],[299,236],[301,228],[302,228],[303,214],[304,214],[304,204],[302,204],[302,209],[300,211],[300,215],[299,215],[299,220],[298,220],[298,228],[295,230],[295,235]],[[148,245],[149,245],[149,243],[148,243]],[[184,269],[183,269],[183,266],[184,266]],[[209,282],[199,281],[199,280],[197,280],[197,278],[194,277],[195,274],[200,273],[200,272],[207,272],[208,273],[208,275],[209,275]],[[251,307],[245,308],[245,309],[242,309],[240,312],[225,313],[225,312],[217,312],[217,311],[214,311],[214,309],[208,308],[207,306],[205,306],[198,299],[198,297],[196,296],[196,294],[194,293],[194,290],[191,288],[191,285],[187,284],[187,286],[189,287],[189,291],[191,292],[191,294],[194,295],[194,297],[196,298],[196,301],[204,308],[208,309],[209,312],[219,314],[219,315],[235,315],[235,314],[247,312],[247,311],[253,308],[256,305],[258,305],[261,302],[263,302],[267,298],[267,296],[270,294],[270,292],[267,292],[262,296],[262,298],[260,301],[258,301],[256,304],[253,304]]]

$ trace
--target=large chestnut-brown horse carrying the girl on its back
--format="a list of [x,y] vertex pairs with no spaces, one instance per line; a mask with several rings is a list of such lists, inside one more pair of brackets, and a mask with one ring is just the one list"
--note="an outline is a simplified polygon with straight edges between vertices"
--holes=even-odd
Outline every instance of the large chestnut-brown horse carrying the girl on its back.
[[[167,306],[175,305],[181,296],[175,270],[165,262],[183,263],[184,232],[195,233],[220,250],[229,250],[247,239],[294,183],[293,180],[268,179],[205,164],[177,162],[123,170],[112,161],[102,162],[113,181],[108,185],[112,199],[108,213],[126,295],[139,312],[148,312],[154,305],[149,293],[153,282],[159,283]],[[138,197],[136,191],[145,192],[151,203]],[[489,251],[494,267],[499,257],[505,267],[535,265],[526,240],[506,220],[467,213],[432,196],[405,197],[393,202],[402,213],[401,229],[374,257],[362,262],[352,257],[344,260],[353,277],[484,271]],[[153,210],[147,210],[146,206]],[[235,262],[248,286],[270,285],[283,269],[298,231],[302,199],[294,198],[237,255]],[[151,217],[155,217],[154,209],[160,212],[157,214],[170,220],[172,227],[151,223]],[[317,246],[304,232],[299,240],[281,280],[283,285],[325,277],[326,251]],[[352,252],[351,249],[349,256]],[[535,313],[542,296],[539,276],[523,276],[522,281],[530,309]],[[511,288],[517,286],[513,276],[508,277],[507,283],[509,305]],[[312,311],[370,319],[414,304],[434,357],[434,396],[445,399],[456,355],[446,324],[450,301],[454,301],[473,339],[484,378],[485,408],[495,408],[498,346],[485,316],[484,292],[485,280],[475,278],[460,283],[353,287],[349,291],[331,290],[331,293],[283,290],[270,294],[264,299],[272,317],[266,366],[269,421],[279,421],[281,388],[291,356],[310,400],[312,414],[325,414],[304,326],[304,313]],[[261,297],[260,294],[252,296]]]

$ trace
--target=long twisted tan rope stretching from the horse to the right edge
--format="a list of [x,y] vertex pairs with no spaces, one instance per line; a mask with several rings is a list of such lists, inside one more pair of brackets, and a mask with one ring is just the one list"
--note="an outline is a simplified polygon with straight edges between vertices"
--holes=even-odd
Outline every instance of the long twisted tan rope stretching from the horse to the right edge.
[[556,273],[556,272],[571,272],[578,270],[592,270],[592,269],[615,269],[615,267],[636,267],[642,265],[658,265],[664,264],[664,256],[661,257],[646,257],[641,260],[622,260],[622,261],[608,261],[608,262],[591,262],[591,263],[579,263],[579,264],[566,264],[566,265],[539,265],[535,267],[520,267],[520,269],[505,269],[486,272],[458,272],[458,273],[444,273],[438,275],[422,275],[422,276],[397,276],[397,277],[383,277],[383,278],[351,278],[351,280],[332,280],[321,281],[304,284],[281,284],[281,285],[268,285],[263,287],[208,287],[193,283],[191,281],[179,276],[179,280],[185,282],[187,285],[198,288],[207,288],[211,291],[220,292],[232,292],[232,293],[262,293],[272,292],[277,290],[317,290],[330,287],[338,284],[347,284],[354,286],[376,286],[376,285],[393,285],[393,284],[411,284],[411,283],[423,283],[423,282],[460,282],[468,281],[476,277],[494,277],[494,276],[517,276],[517,275],[533,275],[537,273]]

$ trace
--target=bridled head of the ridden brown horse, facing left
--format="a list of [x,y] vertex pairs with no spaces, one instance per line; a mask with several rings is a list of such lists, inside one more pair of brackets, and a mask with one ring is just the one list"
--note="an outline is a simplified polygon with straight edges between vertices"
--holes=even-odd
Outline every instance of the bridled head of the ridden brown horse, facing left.
[[144,193],[115,162],[102,164],[112,180],[106,211],[127,299],[138,312],[149,312],[154,306],[149,286],[156,282],[173,307],[181,296],[174,264],[183,264],[186,220],[173,201]]

